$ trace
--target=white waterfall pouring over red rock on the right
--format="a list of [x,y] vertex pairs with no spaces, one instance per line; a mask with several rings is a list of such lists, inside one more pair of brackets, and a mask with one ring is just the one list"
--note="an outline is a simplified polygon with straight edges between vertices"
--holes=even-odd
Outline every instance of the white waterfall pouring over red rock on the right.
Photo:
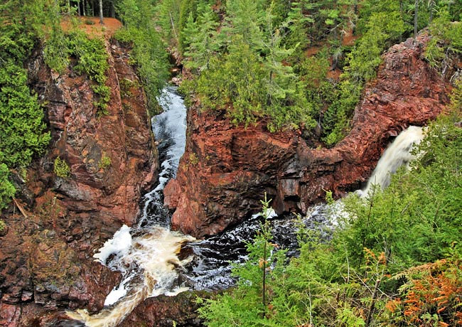
[[373,185],[380,186],[382,190],[389,186],[391,175],[395,173],[399,167],[403,165],[409,167],[409,162],[414,159],[412,149],[414,145],[419,144],[422,139],[424,139],[423,127],[410,126],[408,129],[401,132],[385,150],[372,172],[372,176],[370,176],[369,181],[367,181],[367,186],[362,191],[358,191],[360,196],[365,197]]

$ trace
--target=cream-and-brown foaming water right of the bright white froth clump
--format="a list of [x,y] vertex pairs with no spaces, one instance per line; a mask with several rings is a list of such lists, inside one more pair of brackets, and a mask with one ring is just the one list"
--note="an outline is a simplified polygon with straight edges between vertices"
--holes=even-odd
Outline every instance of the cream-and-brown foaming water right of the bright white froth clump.
[[122,299],[117,299],[117,292],[111,292],[106,302],[112,306],[100,313],[90,315],[87,310],[80,309],[67,312],[67,315],[84,322],[88,327],[117,326],[144,299],[162,294],[173,296],[187,291],[188,287],[176,282],[178,271],[192,258],[178,259],[178,253],[185,242],[194,240],[194,237],[171,232],[163,227],[153,228],[148,234],[134,237],[129,251],[118,261],[139,267],[138,271],[142,272],[141,281],[131,284],[130,288],[126,289],[126,284],[134,279],[134,276],[130,276],[129,280],[125,279],[117,288],[124,289],[121,291],[124,292]]

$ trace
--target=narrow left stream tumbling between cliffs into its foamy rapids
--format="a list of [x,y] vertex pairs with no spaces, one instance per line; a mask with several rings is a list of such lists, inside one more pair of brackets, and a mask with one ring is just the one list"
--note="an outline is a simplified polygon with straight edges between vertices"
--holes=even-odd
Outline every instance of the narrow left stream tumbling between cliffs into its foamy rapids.
[[151,296],[176,295],[188,290],[178,284],[178,274],[192,257],[178,259],[181,247],[193,237],[171,232],[162,191],[175,176],[186,142],[186,107],[175,88],[163,90],[159,103],[164,112],[153,118],[153,129],[161,152],[159,185],[145,195],[143,215],[137,227],[122,226],[94,255],[97,261],[122,272],[122,282],[104,301],[100,313],[84,310],[68,316],[90,327],[117,326],[141,301]]

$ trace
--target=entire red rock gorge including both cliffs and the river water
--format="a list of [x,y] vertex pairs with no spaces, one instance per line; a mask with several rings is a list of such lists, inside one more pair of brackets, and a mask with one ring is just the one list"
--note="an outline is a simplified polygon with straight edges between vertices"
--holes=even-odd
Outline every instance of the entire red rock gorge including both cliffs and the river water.
[[[51,70],[38,47],[28,82],[45,100],[51,141],[15,175],[16,198],[2,212],[0,326],[203,326],[195,296],[235,286],[232,265],[248,259],[265,195],[272,242],[297,257],[301,222],[329,240],[345,220],[339,199],[386,188],[421,155],[412,149],[445,111],[460,70],[458,59],[444,74],[431,68],[430,40],[424,31],[382,55],[349,134],[331,147],[298,129],[269,132],[186,107],[171,85],[149,118],[132,49],[114,39],[104,41],[110,100],[100,115],[92,81],[72,66]],[[53,171],[57,158],[68,176]]]

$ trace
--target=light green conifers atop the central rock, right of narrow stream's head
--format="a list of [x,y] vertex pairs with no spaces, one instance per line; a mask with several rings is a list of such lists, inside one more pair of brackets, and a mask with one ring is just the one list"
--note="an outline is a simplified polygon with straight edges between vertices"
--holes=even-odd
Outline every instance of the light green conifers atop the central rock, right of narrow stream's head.
[[282,28],[273,23],[274,6],[263,8],[259,1],[228,2],[228,16],[217,34],[210,7],[198,6],[198,20],[191,15],[185,29],[185,54],[190,55],[186,67],[197,68],[200,75],[183,83],[182,90],[195,92],[205,109],[226,109],[234,124],[267,119],[272,132],[313,127],[304,85],[284,64],[294,49],[282,44]]

